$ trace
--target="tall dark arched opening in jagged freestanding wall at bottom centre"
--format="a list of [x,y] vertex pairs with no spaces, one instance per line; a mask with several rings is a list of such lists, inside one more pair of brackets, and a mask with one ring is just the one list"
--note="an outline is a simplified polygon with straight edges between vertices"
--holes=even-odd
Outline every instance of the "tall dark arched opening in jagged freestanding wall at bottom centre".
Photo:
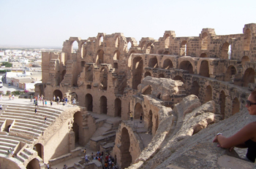
[[121,168],[128,168],[132,163],[132,156],[129,152],[129,133],[126,127],[121,130]]

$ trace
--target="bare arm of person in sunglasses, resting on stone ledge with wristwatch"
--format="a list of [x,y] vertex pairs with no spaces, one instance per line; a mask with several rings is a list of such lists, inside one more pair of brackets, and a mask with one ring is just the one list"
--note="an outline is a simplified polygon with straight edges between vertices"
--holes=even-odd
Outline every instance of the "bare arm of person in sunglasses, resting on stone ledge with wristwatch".
[[249,123],[249,125],[244,126],[235,135],[226,138],[224,135],[216,135],[213,142],[217,142],[222,148],[231,148],[233,146],[238,146],[240,148],[245,148],[245,141],[249,139],[255,140],[256,138],[256,122]]

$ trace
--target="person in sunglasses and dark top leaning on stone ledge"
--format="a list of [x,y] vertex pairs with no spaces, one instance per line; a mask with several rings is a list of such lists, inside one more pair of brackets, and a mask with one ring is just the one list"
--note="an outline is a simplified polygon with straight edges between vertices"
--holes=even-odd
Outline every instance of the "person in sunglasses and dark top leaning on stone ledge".
[[[256,115],[256,90],[254,90],[246,101],[246,108],[250,115]],[[255,162],[256,158],[256,122],[251,122],[244,126],[238,133],[225,137],[222,133],[217,133],[214,141],[218,143],[218,147],[224,149],[232,149],[234,146],[238,148],[247,148],[245,160]]]

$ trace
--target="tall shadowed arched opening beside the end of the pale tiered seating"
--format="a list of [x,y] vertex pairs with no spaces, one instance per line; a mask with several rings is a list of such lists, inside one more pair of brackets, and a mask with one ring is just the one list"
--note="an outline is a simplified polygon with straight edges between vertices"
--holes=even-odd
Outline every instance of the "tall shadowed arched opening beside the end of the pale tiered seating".
[[80,144],[80,135],[83,135],[83,117],[80,111],[74,114],[72,129],[75,133],[75,144]]

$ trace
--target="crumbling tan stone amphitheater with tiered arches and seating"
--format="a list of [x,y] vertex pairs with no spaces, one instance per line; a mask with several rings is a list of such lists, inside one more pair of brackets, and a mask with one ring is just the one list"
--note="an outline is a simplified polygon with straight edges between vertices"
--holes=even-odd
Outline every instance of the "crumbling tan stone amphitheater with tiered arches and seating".
[[[78,50],[73,50],[74,42]],[[82,156],[87,147],[110,153],[118,168],[186,168],[174,157],[182,151],[171,144],[183,146],[194,135],[210,140],[216,133],[204,131],[244,116],[236,114],[255,90],[255,71],[255,23],[244,25],[243,34],[217,35],[214,28],[203,28],[199,36],[165,31],[158,40],[140,42],[121,33],[70,37],[61,53],[42,52],[42,84],[36,85],[35,95],[48,101],[53,95],[75,98],[78,106],[40,107],[42,115],[34,116],[33,106],[5,104],[1,167],[45,168],[43,162],[55,165]],[[50,118],[47,124],[43,114]],[[194,121],[191,114],[197,114]],[[7,158],[10,147],[17,157]],[[214,162],[210,168],[219,166]],[[70,168],[102,167],[78,162]]]

